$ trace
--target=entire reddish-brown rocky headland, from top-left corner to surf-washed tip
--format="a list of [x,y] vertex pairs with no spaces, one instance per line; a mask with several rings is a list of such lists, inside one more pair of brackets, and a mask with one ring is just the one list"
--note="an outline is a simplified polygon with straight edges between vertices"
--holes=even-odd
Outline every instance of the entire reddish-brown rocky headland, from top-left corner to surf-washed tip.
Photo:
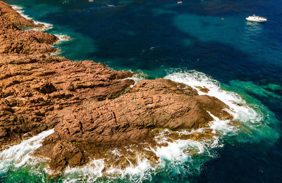
[[[130,77],[137,73],[51,56],[56,49],[50,45],[59,39],[20,29],[25,26],[44,25],[0,1],[0,150],[54,128],[33,153],[50,159],[53,175],[94,158],[104,158],[105,168],[135,165],[137,155],[126,151],[128,146],[154,161],[157,157],[144,147],[166,146],[154,140],[159,130],[209,127],[212,115],[233,119],[225,103],[186,84],[165,79],[135,83]],[[206,130],[171,139],[213,135]],[[121,149],[122,156],[110,155],[109,149]]]

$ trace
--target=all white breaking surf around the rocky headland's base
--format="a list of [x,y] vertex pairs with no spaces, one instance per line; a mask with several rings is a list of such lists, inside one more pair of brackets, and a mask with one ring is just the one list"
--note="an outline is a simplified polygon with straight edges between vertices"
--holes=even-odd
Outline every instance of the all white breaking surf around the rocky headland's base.
[[[242,96],[235,92],[227,91],[221,88],[218,81],[212,79],[202,72],[196,70],[190,71],[172,71],[166,75],[166,79],[175,82],[183,82],[201,92],[199,87],[209,89],[209,96],[215,96],[226,103],[238,123],[233,124],[230,120],[219,120],[215,116],[214,121],[209,127],[202,127],[197,130],[181,130],[172,132],[170,130],[161,130],[158,132],[154,140],[159,146],[147,146],[146,151],[150,151],[157,156],[156,161],[149,160],[142,153],[131,149],[137,156],[137,165],[130,164],[127,168],[109,168],[105,169],[104,159],[93,159],[87,165],[80,168],[66,168],[60,179],[63,182],[111,182],[113,180],[121,180],[122,182],[143,182],[152,180],[154,175],[166,173],[169,177],[189,177],[199,175],[204,163],[213,158],[217,158],[217,150],[223,148],[228,141],[260,141],[261,139],[271,139],[275,141],[278,138],[278,132],[269,126],[274,120],[273,114],[260,103],[247,103]],[[142,80],[142,77],[133,77],[136,82]],[[212,135],[207,139],[171,139],[172,134],[189,135],[196,133],[209,132]],[[23,141],[21,144],[11,146],[0,153],[3,160],[0,163],[0,171],[6,172],[7,168],[13,164],[19,168],[27,162],[32,162],[29,156],[30,152],[40,146],[42,139],[47,137],[54,130],[42,132],[31,139]],[[174,136],[175,137],[175,136]],[[226,138],[228,137],[228,138]],[[161,144],[166,144],[163,146]],[[19,153],[20,152],[20,153]],[[123,156],[118,149],[111,151],[113,156]],[[47,172],[47,169],[42,169]],[[44,176],[44,175],[38,175]]]

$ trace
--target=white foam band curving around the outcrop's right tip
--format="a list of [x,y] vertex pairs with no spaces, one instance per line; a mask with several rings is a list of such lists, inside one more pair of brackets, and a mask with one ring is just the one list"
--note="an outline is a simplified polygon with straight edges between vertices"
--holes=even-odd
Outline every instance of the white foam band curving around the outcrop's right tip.
[[255,140],[258,141],[261,137],[265,138],[269,134],[272,134],[271,138],[273,139],[278,137],[278,132],[266,125],[275,121],[276,118],[265,106],[247,103],[239,94],[222,89],[218,81],[205,75],[203,72],[178,70],[176,72],[172,71],[165,78],[188,84],[192,88],[197,89],[199,94],[206,93],[201,92],[197,87],[206,87],[209,89],[207,95],[214,96],[226,103],[230,108],[226,109],[226,111],[233,115],[234,120],[238,120],[244,126],[243,129],[235,128],[233,125],[230,125],[229,120],[219,120],[213,116],[214,122],[212,122],[211,127],[214,132],[219,132],[222,136],[235,135],[238,130],[245,130],[251,134],[256,132],[257,137]]

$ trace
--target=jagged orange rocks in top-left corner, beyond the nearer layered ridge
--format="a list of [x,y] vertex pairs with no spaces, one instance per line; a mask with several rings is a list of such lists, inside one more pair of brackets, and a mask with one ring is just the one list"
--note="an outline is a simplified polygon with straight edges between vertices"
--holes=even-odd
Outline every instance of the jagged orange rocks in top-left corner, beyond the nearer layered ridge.
[[0,53],[30,54],[55,51],[49,44],[57,42],[58,37],[34,30],[20,30],[18,25],[42,27],[21,17],[11,6],[0,1]]

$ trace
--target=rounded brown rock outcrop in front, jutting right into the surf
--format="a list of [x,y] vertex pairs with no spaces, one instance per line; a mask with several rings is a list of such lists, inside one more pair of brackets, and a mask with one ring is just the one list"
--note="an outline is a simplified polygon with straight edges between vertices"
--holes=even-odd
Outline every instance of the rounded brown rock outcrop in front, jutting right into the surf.
[[[231,119],[225,108],[228,106],[219,99],[200,96],[186,84],[164,79],[143,80],[116,99],[89,100],[81,106],[70,108],[56,125],[55,133],[43,142],[35,155],[51,158],[51,169],[58,170],[63,155],[56,151],[51,154],[46,152],[66,141],[75,144],[84,155],[101,158],[101,149],[130,144],[153,145],[154,133],[151,131],[154,129],[207,127],[214,120],[209,113],[222,120]],[[70,153],[70,158],[65,160],[73,161],[73,156]],[[77,163],[87,162],[87,156],[80,156],[84,159],[78,158]],[[63,165],[66,167],[67,164],[63,162],[59,168]]]

